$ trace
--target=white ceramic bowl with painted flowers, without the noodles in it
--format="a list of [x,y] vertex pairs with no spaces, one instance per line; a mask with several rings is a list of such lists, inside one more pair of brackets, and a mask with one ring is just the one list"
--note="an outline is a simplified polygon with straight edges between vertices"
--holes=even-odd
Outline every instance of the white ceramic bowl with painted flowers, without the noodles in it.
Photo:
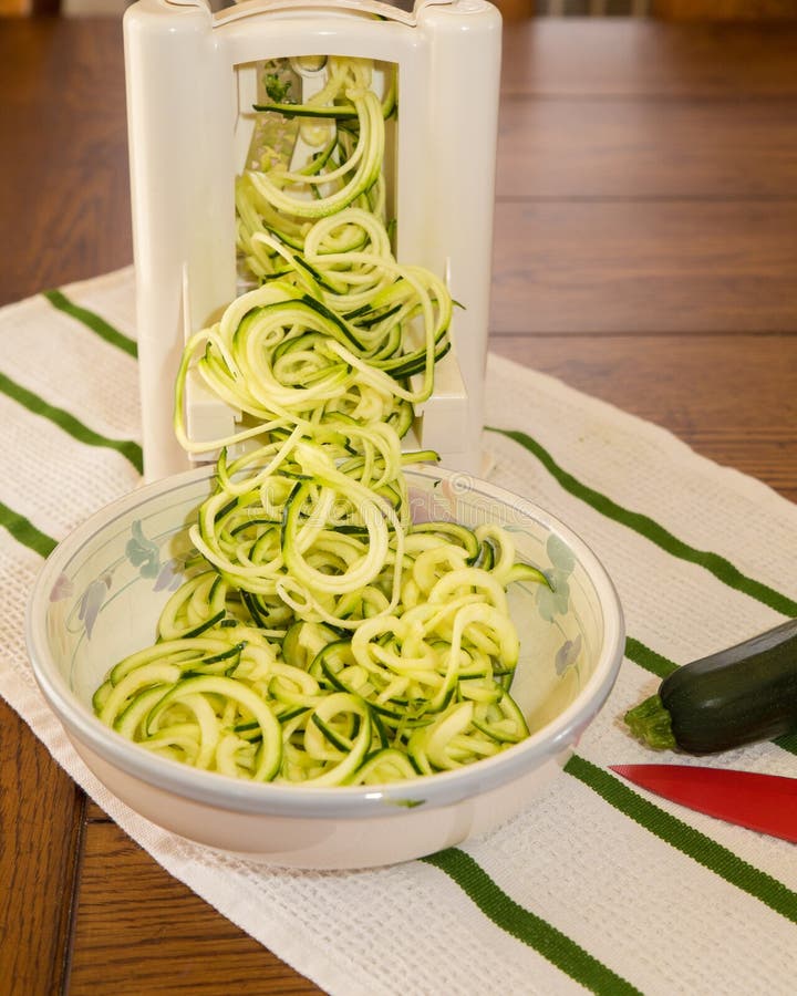
[[467,475],[407,470],[416,520],[508,528],[521,559],[552,574],[510,587],[521,655],[513,693],[528,739],[458,770],[385,786],[252,784],[154,756],[103,725],[91,697],[110,666],[153,642],[190,548],[187,523],[213,468],[145,486],[92,516],[50,556],[27,618],[33,671],[89,768],[153,822],[271,864],[364,868],[462,843],[534,806],[614,683],[623,619],[589,548],[530,501]]

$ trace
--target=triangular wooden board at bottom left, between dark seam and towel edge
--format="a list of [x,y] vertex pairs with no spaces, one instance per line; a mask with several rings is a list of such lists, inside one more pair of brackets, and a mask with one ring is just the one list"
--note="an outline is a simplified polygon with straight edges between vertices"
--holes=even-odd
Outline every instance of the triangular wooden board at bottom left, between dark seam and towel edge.
[[320,990],[176,882],[115,823],[92,822],[69,992],[213,996]]

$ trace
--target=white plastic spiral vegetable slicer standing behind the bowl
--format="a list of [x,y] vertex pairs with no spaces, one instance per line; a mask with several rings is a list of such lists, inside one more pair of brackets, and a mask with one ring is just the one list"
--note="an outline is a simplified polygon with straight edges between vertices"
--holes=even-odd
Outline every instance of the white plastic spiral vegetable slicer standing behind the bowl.
[[[405,448],[478,474],[493,253],[500,15],[486,0],[138,0],[125,13],[145,475],[214,459],[187,456],[173,429],[175,375],[188,335],[240,292],[236,177],[246,168],[262,66],[284,60],[318,86],[323,56],[395,70],[384,175],[400,263],[444,279],[457,302],[453,347],[416,406]],[[304,72],[304,69],[310,68]],[[304,69],[303,69],[304,68]],[[239,413],[198,376],[186,386],[194,438],[235,430]]]

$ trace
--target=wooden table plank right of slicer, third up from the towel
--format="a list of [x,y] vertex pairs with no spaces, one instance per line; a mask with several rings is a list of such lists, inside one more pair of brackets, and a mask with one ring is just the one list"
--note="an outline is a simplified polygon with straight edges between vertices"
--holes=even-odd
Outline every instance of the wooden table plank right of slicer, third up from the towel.
[[501,105],[497,195],[778,199],[794,190],[795,164],[795,97],[514,97]]

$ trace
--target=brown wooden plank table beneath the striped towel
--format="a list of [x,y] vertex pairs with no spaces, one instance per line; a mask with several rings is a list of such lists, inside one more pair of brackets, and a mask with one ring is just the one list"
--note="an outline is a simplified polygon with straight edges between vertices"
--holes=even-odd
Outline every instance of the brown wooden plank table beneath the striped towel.
[[[797,500],[797,24],[509,25],[491,347]],[[132,259],[116,21],[0,22],[0,303]],[[317,992],[0,703],[0,989]],[[155,943],[157,942],[157,943]]]

